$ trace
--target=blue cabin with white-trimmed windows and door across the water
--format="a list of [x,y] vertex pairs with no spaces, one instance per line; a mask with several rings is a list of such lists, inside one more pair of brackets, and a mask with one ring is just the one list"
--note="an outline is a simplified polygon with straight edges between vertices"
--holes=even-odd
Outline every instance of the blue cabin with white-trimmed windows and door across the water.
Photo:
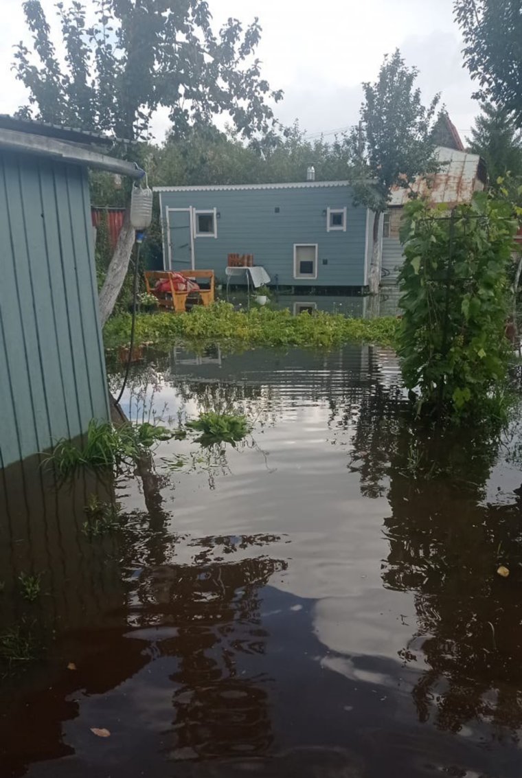
[[228,254],[254,254],[272,283],[363,289],[373,213],[349,181],[156,187],[163,268],[208,270],[225,281]]

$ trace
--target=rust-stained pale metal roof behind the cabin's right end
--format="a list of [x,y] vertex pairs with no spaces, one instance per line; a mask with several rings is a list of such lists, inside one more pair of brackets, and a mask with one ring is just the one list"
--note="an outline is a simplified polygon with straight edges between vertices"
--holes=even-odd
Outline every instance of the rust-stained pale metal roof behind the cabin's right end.
[[[440,146],[436,157],[443,164],[440,172],[418,179],[412,185],[412,190],[420,197],[429,198],[432,205],[469,202],[475,191],[484,188],[485,174],[482,170],[482,159],[478,154]],[[408,199],[408,189],[394,187],[390,205],[405,205]]]

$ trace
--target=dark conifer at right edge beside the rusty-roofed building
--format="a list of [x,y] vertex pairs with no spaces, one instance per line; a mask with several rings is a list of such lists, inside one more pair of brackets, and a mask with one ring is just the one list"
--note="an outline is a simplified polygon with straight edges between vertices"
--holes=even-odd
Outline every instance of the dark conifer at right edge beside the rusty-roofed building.
[[482,103],[482,114],[475,119],[469,150],[485,159],[493,186],[499,177],[522,174],[522,131],[517,130],[513,114],[494,103]]

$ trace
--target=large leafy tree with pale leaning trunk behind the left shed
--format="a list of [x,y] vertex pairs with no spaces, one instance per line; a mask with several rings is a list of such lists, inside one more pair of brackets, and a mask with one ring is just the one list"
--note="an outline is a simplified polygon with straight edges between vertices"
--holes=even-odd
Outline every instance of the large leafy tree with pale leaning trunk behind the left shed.
[[[261,78],[254,56],[257,19],[245,29],[229,19],[216,35],[205,0],[94,0],[92,10],[70,0],[56,7],[65,61],[56,54],[40,0],[23,3],[33,51],[23,43],[16,47],[16,76],[30,94],[21,115],[142,141],[163,107],[177,137],[222,113],[242,138],[270,135],[275,120],[268,100],[282,93]],[[100,292],[102,323],[121,289],[133,243],[127,221]]]

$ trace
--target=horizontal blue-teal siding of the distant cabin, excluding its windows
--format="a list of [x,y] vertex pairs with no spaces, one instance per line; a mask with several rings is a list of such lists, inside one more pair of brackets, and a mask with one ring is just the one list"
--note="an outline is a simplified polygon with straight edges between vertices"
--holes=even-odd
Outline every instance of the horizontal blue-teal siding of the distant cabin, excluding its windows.
[[[255,265],[282,286],[364,286],[366,209],[352,205],[349,186],[161,192],[166,208],[217,209],[218,237],[194,238],[196,268],[225,279],[227,254],[254,254]],[[347,208],[346,232],[327,232],[324,211]],[[275,209],[279,208],[276,213]],[[165,266],[168,266],[164,231]],[[294,279],[293,244],[318,244],[317,279]],[[326,264],[324,264],[326,261]],[[175,261],[174,261],[175,266]]]

